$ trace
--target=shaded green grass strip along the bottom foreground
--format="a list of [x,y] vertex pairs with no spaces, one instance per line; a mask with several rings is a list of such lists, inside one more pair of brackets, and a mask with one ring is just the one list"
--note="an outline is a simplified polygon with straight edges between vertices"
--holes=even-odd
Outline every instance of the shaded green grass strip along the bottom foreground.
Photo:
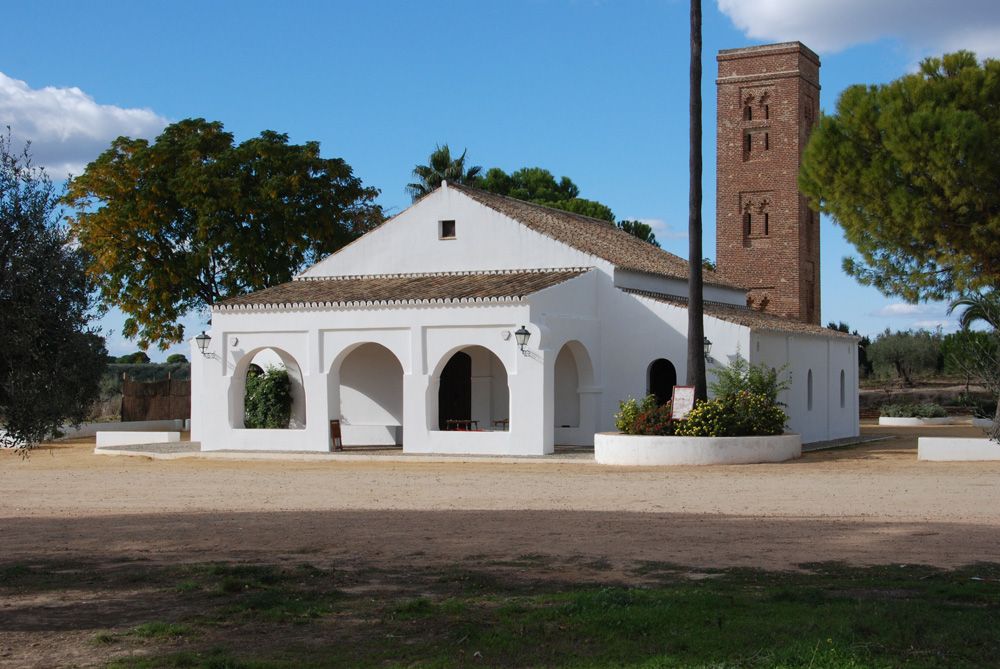
[[[93,638],[95,652],[129,653],[107,665],[122,669],[1000,666],[1000,565],[803,568],[691,572],[644,563],[632,585],[465,568],[124,565],[80,573],[105,594],[140,582],[155,590],[149,601],[163,602],[150,622]],[[20,592],[79,588],[83,578],[45,565],[0,573]]]

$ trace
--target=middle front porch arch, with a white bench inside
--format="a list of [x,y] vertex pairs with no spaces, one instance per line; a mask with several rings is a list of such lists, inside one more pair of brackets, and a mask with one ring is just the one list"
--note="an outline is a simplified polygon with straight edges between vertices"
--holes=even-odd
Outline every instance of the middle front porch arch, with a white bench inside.
[[337,371],[330,375],[331,384],[340,383],[339,392],[330,393],[330,417],[340,420],[344,444],[401,445],[403,366],[392,351],[371,342],[355,346]]

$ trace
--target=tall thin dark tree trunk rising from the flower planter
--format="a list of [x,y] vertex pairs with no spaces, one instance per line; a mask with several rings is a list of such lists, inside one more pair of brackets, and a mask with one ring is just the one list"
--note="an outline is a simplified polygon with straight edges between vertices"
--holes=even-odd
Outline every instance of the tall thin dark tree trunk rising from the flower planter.
[[697,399],[708,397],[705,379],[705,308],[701,249],[701,0],[691,0],[690,183],[688,194],[687,384]]

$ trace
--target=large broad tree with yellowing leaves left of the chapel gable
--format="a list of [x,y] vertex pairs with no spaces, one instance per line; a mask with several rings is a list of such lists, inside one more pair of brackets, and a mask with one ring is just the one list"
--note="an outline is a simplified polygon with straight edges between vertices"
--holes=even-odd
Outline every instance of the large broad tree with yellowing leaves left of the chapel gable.
[[69,183],[70,228],[103,303],[141,348],[184,339],[180,319],[289,281],[382,221],[367,188],[319,144],[264,131],[239,145],[188,119],[156,141],[119,137]]

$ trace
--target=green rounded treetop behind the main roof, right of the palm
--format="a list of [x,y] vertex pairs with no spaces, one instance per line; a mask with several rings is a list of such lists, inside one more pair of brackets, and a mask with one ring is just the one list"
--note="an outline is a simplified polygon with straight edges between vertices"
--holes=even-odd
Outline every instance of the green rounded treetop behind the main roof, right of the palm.
[[499,167],[490,168],[475,181],[477,188],[506,195],[525,202],[570,211],[574,214],[614,222],[611,208],[596,200],[580,197],[579,187],[569,177],[556,180],[552,172],[541,167],[522,167],[507,174]]

